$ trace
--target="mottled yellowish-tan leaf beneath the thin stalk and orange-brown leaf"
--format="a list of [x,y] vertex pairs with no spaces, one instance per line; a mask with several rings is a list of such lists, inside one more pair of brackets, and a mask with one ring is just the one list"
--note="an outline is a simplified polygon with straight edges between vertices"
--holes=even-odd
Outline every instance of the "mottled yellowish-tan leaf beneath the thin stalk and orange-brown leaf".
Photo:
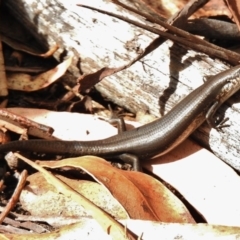
[[[128,218],[123,207],[101,184],[86,180],[69,179],[61,175],[56,177],[108,212],[115,219]],[[75,219],[75,222],[77,222],[78,219],[92,218],[87,209],[84,209],[71,198],[59,194],[57,189],[48,183],[41,173],[32,174],[27,181],[28,185],[21,193],[20,202],[22,208],[31,213],[32,217],[54,218],[59,217],[59,212],[61,212],[63,220]],[[60,226],[62,226],[61,222],[59,222],[58,227]]]

